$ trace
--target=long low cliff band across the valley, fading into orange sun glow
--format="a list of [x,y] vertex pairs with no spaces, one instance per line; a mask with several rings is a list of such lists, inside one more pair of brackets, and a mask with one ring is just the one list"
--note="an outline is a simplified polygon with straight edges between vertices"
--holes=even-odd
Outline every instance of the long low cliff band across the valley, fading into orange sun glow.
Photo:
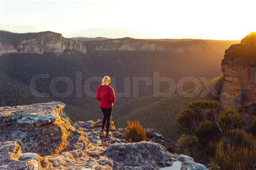
[[206,42],[201,40],[157,41],[132,38],[86,41],[85,45],[93,51],[156,51],[172,53],[203,51],[205,48],[210,48]]

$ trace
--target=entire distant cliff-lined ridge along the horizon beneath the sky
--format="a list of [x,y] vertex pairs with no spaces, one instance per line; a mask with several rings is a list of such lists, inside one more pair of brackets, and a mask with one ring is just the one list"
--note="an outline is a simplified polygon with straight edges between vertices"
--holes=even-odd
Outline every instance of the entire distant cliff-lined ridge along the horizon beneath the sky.
[[158,51],[184,53],[203,51],[205,48],[222,48],[239,41],[203,39],[134,39],[105,37],[64,38],[61,33],[12,33],[0,31],[0,55],[10,53],[63,53],[65,49],[89,51]]

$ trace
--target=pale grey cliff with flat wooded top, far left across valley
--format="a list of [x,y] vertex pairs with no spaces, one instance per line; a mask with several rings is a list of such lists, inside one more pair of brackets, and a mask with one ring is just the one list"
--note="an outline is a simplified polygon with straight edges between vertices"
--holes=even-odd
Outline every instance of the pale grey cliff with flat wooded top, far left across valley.
[[1,31],[0,55],[9,53],[62,53],[64,49],[76,49],[86,53],[83,41],[64,38],[55,32],[16,34]]

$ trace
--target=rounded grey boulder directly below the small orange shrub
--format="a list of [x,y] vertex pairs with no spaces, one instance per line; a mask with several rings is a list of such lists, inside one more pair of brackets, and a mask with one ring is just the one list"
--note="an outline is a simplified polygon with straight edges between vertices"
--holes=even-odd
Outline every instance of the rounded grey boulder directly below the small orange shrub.
[[113,161],[114,168],[125,169],[158,169],[171,166],[176,160],[162,145],[150,141],[116,143],[102,154]]

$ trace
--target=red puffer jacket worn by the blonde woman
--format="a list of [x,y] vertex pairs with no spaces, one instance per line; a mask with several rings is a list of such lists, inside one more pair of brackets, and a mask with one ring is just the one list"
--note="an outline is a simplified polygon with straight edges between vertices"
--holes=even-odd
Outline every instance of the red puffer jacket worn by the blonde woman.
[[109,109],[113,107],[116,100],[114,89],[108,85],[100,85],[97,89],[95,98],[99,101],[99,107]]

